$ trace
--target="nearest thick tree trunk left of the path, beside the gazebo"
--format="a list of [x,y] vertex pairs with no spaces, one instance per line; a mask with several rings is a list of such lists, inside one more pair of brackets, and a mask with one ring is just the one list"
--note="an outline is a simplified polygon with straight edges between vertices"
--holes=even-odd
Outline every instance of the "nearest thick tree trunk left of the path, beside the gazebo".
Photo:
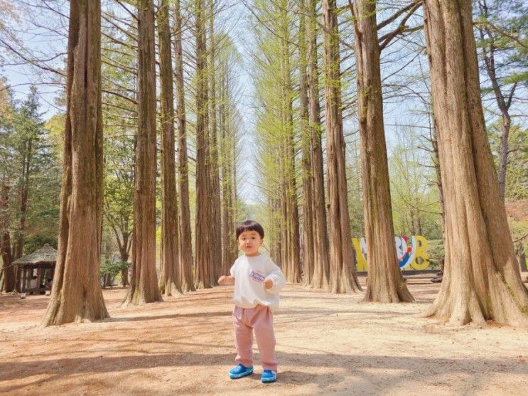
[[101,8],[70,2],[58,256],[43,326],[107,318],[99,284],[102,224]]

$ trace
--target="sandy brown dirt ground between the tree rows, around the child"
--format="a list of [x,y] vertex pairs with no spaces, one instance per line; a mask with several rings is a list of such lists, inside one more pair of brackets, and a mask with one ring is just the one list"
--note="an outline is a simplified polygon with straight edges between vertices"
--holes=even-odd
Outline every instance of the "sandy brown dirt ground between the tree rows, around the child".
[[288,286],[275,314],[279,378],[230,380],[232,287],[120,307],[111,319],[39,328],[48,296],[0,296],[0,393],[7,395],[527,395],[528,330],[453,328],[416,319],[438,285],[413,280],[416,304],[365,304]]

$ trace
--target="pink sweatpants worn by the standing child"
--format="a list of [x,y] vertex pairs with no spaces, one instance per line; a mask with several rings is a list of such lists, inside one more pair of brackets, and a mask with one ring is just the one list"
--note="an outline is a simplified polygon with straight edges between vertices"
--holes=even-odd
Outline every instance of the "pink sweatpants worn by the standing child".
[[235,328],[235,347],[237,348],[235,362],[246,367],[253,365],[254,329],[264,370],[276,370],[273,314],[271,314],[269,307],[257,305],[254,308],[239,308],[235,306],[233,326]]

